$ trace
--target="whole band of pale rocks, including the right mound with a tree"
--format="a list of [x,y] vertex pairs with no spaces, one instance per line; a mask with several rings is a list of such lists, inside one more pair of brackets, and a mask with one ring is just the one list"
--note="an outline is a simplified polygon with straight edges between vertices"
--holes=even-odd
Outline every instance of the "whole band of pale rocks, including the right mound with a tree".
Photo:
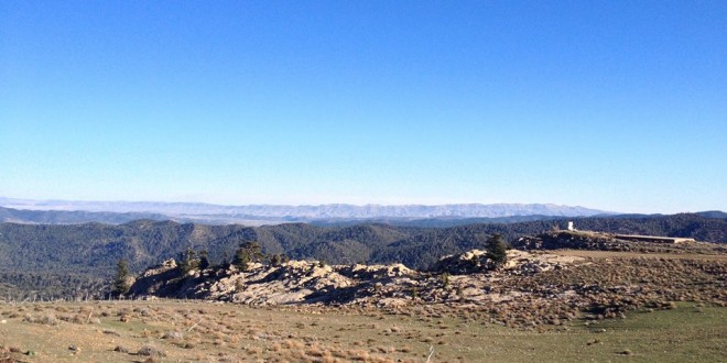
[[[576,262],[574,258],[511,250],[508,252],[508,262],[495,272],[488,267],[491,262],[487,254],[473,250],[442,258],[435,273],[420,273],[402,264],[326,265],[312,261],[290,261],[279,266],[250,264],[246,271],[235,266],[193,270],[186,275],[176,268],[173,261],[167,261],[144,272],[132,286],[132,293],[248,305],[381,306],[402,305],[414,299],[477,300],[477,296],[486,294],[489,278],[563,268]],[[453,289],[454,285],[443,280],[442,273],[445,272],[468,290],[457,293]]]

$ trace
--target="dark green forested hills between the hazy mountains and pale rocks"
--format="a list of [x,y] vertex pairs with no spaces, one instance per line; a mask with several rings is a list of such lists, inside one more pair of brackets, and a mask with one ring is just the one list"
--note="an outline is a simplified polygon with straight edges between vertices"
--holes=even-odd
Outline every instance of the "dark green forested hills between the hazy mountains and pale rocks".
[[576,228],[582,230],[727,242],[727,219],[698,215],[580,218],[452,228],[319,227],[304,223],[250,228],[151,220],[120,226],[2,223],[0,283],[14,284],[18,279],[43,282],[48,276],[55,278],[58,275],[106,278],[113,274],[119,258],[127,258],[131,270],[140,272],[187,249],[207,250],[210,261],[219,263],[230,258],[243,241],[258,241],[265,253],[285,253],[293,258],[316,258],[334,264],[402,262],[413,268],[425,268],[445,254],[485,248],[485,240],[492,233],[513,240],[543,232],[553,226],[564,227],[567,220],[574,220]]

